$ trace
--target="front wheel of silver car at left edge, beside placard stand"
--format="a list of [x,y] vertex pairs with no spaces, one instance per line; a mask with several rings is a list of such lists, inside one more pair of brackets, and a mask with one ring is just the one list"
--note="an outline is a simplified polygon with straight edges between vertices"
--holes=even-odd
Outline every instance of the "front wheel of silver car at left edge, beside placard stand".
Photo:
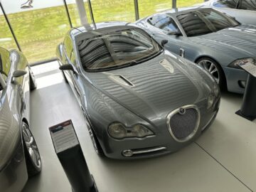
[[33,134],[25,122],[22,122],[22,141],[28,177],[39,174],[42,169],[41,156]]

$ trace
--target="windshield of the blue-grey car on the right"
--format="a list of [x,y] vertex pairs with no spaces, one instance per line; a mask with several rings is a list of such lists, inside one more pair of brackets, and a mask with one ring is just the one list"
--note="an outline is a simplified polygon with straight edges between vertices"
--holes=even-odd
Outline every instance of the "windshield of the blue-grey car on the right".
[[198,9],[177,16],[186,35],[201,36],[240,25],[238,21],[213,9]]

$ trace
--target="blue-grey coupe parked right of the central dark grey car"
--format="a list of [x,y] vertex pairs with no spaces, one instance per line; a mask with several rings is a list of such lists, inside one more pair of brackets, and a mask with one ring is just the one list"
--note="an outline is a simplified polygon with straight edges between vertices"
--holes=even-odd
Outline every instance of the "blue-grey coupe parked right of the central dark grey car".
[[166,11],[137,21],[165,48],[198,63],[230,92],[243,93],[247,73],[237,63],[255,58],[256,26],[241,24],[211,8]]

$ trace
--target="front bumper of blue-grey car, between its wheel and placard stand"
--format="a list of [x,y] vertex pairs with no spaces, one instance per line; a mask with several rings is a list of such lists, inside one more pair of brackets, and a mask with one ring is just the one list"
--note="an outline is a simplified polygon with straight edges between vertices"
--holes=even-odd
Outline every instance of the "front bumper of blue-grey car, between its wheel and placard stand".
[[227,80],[228,91],[244,93],[247,81],[247,72],[242,69],[223,67],[225,78]]

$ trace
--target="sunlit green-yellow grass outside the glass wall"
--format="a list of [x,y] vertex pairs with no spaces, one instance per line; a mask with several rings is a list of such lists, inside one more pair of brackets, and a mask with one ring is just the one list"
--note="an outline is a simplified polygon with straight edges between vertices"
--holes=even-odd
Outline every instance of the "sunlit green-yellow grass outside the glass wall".
[[[140,18],[154,14],[157,11],[171,9],[172,6],[171,0],[138,1]],[[201,2],[203,0],[177,0],[177,6],[191,6]],[[73,26],[79,26],[80,20],[76,5],[70,4],[68,9]],[[85,9],[88,18],[90,18],[87,3],[85,3]],[[95,22],[135,21],[133,0],[95,0],[92,1],[92,9]],[[29,63],[54,58],[56,46],[63,41],[65,33],[70,28],[64,6],[24,11],[9,14],[8,17]],[[16,48],[4,16],[0,16],[0,25],[0,46]]]

